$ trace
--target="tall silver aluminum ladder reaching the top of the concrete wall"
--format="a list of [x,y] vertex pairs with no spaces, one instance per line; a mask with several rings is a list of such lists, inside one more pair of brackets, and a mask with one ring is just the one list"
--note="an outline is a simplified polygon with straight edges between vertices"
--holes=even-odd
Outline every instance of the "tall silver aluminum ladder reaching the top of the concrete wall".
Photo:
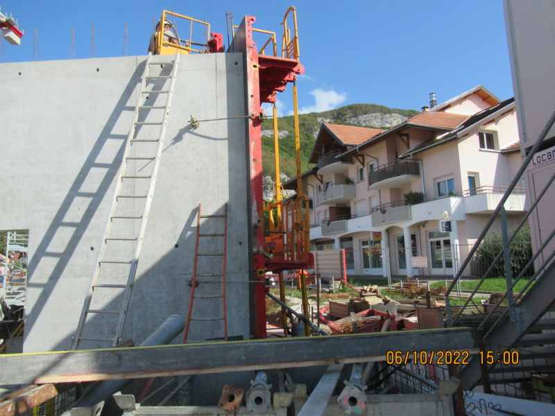
[[[156,55],[160,56],[160,55]],[[141,94],[117,176],[110,217],[71,349],[83,341],[121,342],[146,224],[151,211],[180,54],[155,62],[148,54]]]

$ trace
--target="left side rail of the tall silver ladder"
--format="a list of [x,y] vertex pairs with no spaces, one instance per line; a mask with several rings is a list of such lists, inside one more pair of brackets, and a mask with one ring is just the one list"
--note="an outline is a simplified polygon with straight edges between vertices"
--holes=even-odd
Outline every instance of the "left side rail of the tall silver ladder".
[[130,153],[130,148],[131,148],[131,140],[133,139],[133,137],[135,136],[135,130],[136,130],[136,122],[139,119],[139,107],[142,103],[142,92],[144,91],[145,87],[146,87],[146,78],[148,77],[148,73],[150,71],[150,63],[152,61],[152,53],[148,53],[148,58],[146,59],[146,65],[144,68],[144,72],[143,72],[143,76],[142,76],[142,81],[141,81],[141,87],[140,87],[140,92],[141,94],[139,94],[139,97],[137,98],[137,105],[135,105],[135,112],[133,113],[133,122],[131,124],[131,128],[129,130],[128,133],[128,137],[127,137],[127,141],[126,141],[126,148],[123,151],[123,160],[121,161],[121,165],[119,166],[119,172],[117,175],[117,184],[116,184],[116,189],[114,190],[114,198],[112,199],[112,208],[110,210],[110,216],[108,216],[108,221],[106,222],[106,226],[105,226],[105,231],[103,234],[103,240],[102,240],[102,248],[101,250],[99,250],[99,254],[96,257],[96,263],[94,266],[94,272],[92,273],[92,277],[90,280],[90,284],[89,284],[89,293],[87,293],[87,299],[85,300],[85,303],[83,304],[83,310],[81,311],[81,315],[79,317],[79,322],[78,322],[78,326],[77,326],[77,331],[74,335],[74,340],[73,340],[73,345],[71,346],[71,349],[78,349],[79,344],[80,344],[80,337],[83,335],[83,331],[85,329],[85,322],[87,320],[87,311],[89,310],[89,307],[91,305],[92,302],[92,295],[94,293],[94,284],[96,282],[96,279],[98,279],[99,277],[99,272],[100,272],[100,268],[101,268],[101,260],[104,257],[104,252],[105,252],[105,248],[106,248],[106,239],[108,238],[108,234],[110,234],[110,229],[112,227],[112,216],[114,216],[114,213],[117,209],[117,196],[119,195],[119,191],[121,190],[121,175],[123,175],[123,173],[126,170],[126,166],[127,166],[127,156]]

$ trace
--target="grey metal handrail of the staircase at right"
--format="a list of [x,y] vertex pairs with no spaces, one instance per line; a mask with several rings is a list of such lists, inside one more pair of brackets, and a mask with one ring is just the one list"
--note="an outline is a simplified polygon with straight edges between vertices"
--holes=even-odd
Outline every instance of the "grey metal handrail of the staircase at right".
[[[540,148],[540,145],[542,144],[543,140],[547,136],[547,133],[552,128],[552,125],[554,125],[554,123],[555,112],[549,118],[549,121],[538,137],[536,144],[534,144],[533,147],[530,149],[526,159],[524,159],[524,162],[522,163],[522,166],[520,166],[520,169],[516,173],[515,177],[513,177],[511,184],[509,184],[509,187],[506,188],[506,191],[504,192],[502,198],[499,200],[497,208],[495,209],[495,211],[493,211],[493,214],[488,220],[488,223],[486,223],[486,226],[482,230],[477,241],[470,249],[468,256],[461,264],[459,271],[456,273],[456,276],[454,277],[452,283],[450,284],[449,288],[447,288],[447,291],[445,293],[447,326],[456,326],[457,321],[461,320],[461,317],[465,315],[465,311],[468,308],[468,305],[472,302],[472,298],[479,291],[481,284],[483,284],[488,277],[498,277],[495,275],[495,270],[499,270],[499,262],[502,262],[502,270],[504,270],[507,290],[501,297],[499,297],[497,303],[490,308],[490,312],[488,313],[488,315],[486,315],[484,320],[482,320],[481,324],[479,324],[479,326],[477,327],[478,330],[484,331],[484,339],[487,339],[488,336],[490,336],[490,334],[495,331],[499,324],[506,320],[507,316],[514,316],[515,306],[517,306],[518,302],[520,302],[524,293],[528,291],[528,289],[536,281],[536,279],[543,275],[543,272],[545,272],[547,266],[552,263],[552,260],[555,257],[555,251],[552,250],[552,239],[555,235],[555,230],[552,230],[552,232],[543,240],[543,243],[539,247],[536,247],[536,252],[534,252],[533,255],[529,257],[524,266],[520,268],[516,277],[513,277],[513,272],[511,268],[511,246],[517,243],[517,236],[520,235],[519,232],[522,229],[525,229],[524,227],[527,226],[529,218],[532,216],[532,214],[536,212],[538,202],[542,200],[543,196],[545,196],[545,193],[547,193],[547,190],[554,182],[555,173],[551,176],[549,180],[547,180],[547,182],[545,182],[545,187],[543,187],[543,189],[541,189],[541,191],[537,194],[536,200],[529,207],[527,214],[523,216],[522,221],[517,227],[511,229],[511,232],[509,232],[509,230],[507,229],[504,204],[509,196],[511,196],[511,193],[513,193],[513,191],[515,190],[516,184],[524,175],[524,171],[526,170],[527,166],[529,166],[531,160],[533,159],[533,156],[538,152],[538,148]],[[486,240],[486,235],[490,232],[493,223],[495,222],[495,220],[497,220],[499,215],[501,216],[502,223],[502,248],[497,252],[495,259],[490,261],[488,270],[486,270],[486,272],[484,272],[484,274],[480,277],[479,283],[472,291],[472,293],[470,293],[468,300],[466,300],[460,311],[458,313],[452,314],[450,313],[450,293],[454,290],[454,288],[456,288],[456,285],[459,283],[461,277],[463,277],[463,275],[465,274],[468,274],[468,270],[471,267],[472,259],[475,259],[475,254],[477,254],[481,245],[485,244],[484,241]],[[532,270],[533,273],[531,272]],[[524,284],[520,283],[521,281],[524,281]],[[517,285],[519,285],[518,287],[520,290],[518,291],[518,293],[513,293]],[[502,306],[502,304],[506,305],[507,307],[506,309],[504,309],[504,311],[502,311],[502,313],[499,313],[499,308],[500,306]],[[497,319],[495,319],[494,315],[497,315]],[[487,328],[485,328],[486,323],[488,324]]]

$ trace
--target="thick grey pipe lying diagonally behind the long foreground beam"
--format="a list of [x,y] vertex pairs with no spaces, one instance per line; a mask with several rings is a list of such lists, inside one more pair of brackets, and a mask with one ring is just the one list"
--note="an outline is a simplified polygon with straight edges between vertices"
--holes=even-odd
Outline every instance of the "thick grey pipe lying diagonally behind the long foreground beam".
[[[154,331],[151,336],[146,338],[140,345],[148,347],[151,345],[169,344],[173,338],[185,329],[185,320],[180,315],[169,315],[169,317]],[[121,391],[131,382],[130,379],[101,381],[92,388],[86,395],[75,402],[74,408],[89,408],[99,404],[101,401],[108,401],[115,392]],[[62,413],[62,416],[71,416],[71,410]]]

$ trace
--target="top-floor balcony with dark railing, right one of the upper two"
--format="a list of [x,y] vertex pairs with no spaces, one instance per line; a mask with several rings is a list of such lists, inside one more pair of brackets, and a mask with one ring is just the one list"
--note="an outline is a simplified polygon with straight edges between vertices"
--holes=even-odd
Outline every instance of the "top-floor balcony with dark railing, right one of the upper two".
[[420,165],[414,160],[398,160],[378,166],[368,174],[368,189],[400,188],[420,179]]

